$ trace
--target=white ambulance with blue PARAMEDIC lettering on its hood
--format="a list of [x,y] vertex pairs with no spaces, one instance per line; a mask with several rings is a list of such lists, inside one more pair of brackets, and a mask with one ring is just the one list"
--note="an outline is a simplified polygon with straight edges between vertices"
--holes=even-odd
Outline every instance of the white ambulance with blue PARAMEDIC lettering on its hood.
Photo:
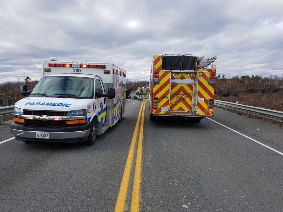
[[[42,61],[43,77],[16,102],[11,134],[23,142],[85,142],[121,122],[126,70],[113,63]],[[107,92],[106,92],[107,91]]]

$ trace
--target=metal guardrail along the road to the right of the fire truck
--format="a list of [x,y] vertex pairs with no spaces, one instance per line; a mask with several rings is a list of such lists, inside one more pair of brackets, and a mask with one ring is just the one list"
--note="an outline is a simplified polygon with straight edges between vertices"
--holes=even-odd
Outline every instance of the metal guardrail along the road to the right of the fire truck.
[[238,103],[224,102],[221,100],[214,100],[214,105],[218,107],[225,107],[227,111],[229,109],[232,109],[232,110],[236,110],[236,113],[244,112],[247,114],[248,117],[250,117],[250,115],[256,115],[256,116],[262,117],[263,122],[265,122],[266,118],[276,120],[276,121],[282,122],[282,126],[283,126],[283,111],[269,110],[269,109],[262,108],[262,107],[241,105]]

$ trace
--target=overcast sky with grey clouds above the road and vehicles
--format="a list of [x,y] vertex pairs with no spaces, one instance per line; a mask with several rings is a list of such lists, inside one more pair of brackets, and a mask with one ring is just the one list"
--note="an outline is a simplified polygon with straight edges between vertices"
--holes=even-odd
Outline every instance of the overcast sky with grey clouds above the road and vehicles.
[[216,75],[283,74],[282,0],[0,0],[0,83],[42,60],[112,62],[149,80],[154,54],[216,56]]

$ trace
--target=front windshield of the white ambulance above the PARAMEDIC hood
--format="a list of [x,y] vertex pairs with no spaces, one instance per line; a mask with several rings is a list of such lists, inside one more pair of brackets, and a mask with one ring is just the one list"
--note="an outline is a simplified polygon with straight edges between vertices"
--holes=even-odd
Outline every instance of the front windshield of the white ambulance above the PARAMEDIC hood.
[[45,76],[37,83],[30,95],[92,98],[93,79],[73,76]]

